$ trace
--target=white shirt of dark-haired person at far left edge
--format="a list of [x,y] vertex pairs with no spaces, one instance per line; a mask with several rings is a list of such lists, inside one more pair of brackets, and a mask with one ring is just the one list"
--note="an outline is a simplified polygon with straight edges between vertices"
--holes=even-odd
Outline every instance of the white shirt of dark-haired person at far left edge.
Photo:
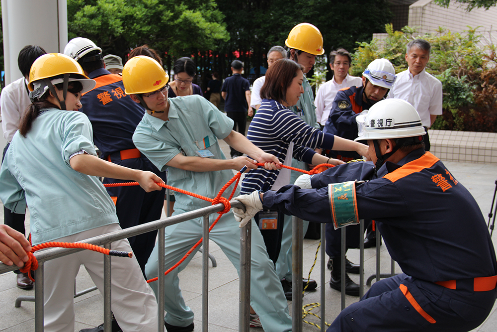
[[0,109],[1,109],[1,126],[3,129],[3,137],[10,142],[12,136],[19,127],[19,121],[31,104],[29,100],[29,91],[26,88],[25,78],[22,77],[1,91]]

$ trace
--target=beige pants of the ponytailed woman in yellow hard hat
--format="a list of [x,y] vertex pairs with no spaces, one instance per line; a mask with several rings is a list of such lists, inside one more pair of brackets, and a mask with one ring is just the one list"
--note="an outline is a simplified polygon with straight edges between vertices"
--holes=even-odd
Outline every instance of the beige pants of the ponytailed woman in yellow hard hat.
[[[114,223],[62,237],[57,241],[77,242],[120,229],[119,224]],[[131,251],[127,239],[112,243],[111,248]],[[74,280],[81,265],[84,265],[95,286],[103,294],[103,254],[83,250],[47,261],[44,270],[46,332],[74,332]],[[121,329],[125,332],[157,331],[157,300],[136,258],[112,257],[111,275],[112,312]]]

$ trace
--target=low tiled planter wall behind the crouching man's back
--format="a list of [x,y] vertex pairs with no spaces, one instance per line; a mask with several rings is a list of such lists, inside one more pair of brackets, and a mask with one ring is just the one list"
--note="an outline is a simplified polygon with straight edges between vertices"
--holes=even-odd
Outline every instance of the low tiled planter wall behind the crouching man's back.
[[497,133],[428,130],[430,152],[443,160],[497,163]]

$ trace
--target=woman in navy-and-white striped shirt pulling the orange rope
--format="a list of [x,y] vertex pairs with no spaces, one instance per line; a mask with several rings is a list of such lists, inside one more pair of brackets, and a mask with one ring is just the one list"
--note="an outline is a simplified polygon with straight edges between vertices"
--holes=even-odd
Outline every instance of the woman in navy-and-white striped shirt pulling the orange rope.
[[[356,151],[368,155],[364,144],[344,139],[311,127],[288,107],[297,104],[303,93],[303,67],[289,59],[278,60],[266,72],[266,81],[260,90],[262,103],[248,127],[247,138],[264,152],[278,157],[284,165],[291,165],[292,156],[306,163],[338,165],[340,160],[325,157],[315,148]],[[242,194],[254,190],[278,190],[290,184],[290,170],[266,170],[261,167],[248,172],[242,182]],[[258,223],[259,216],[255,216]],[[274,223],[259,225],[269,257],[276,262],[281,246],[283,216]],[[269,229],[268,229],[269,228]],[[272,228],[272,229],[271,229]]]

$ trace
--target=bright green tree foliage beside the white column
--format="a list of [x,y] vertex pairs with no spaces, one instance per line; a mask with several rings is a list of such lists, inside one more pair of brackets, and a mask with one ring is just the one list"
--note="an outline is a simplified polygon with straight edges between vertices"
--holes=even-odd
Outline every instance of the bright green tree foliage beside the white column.
[[93,40],[104,53],[124,57],[148,44],[160,54],[191,54],[228,40],[214,0],[68,0],[69,39]]

